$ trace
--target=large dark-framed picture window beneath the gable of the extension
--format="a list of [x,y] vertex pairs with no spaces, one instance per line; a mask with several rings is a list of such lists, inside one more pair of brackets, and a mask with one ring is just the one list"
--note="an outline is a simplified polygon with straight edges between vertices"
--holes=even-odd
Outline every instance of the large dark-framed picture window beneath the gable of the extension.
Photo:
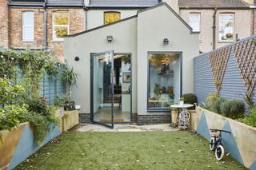
[[180,54],[149,53],[148,111],[168,111],[180,97]]

